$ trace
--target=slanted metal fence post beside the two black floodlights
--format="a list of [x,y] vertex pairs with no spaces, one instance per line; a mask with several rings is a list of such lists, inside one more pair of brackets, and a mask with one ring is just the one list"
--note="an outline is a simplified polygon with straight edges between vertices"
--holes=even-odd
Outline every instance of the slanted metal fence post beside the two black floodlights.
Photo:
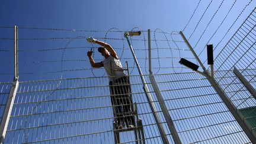
[[209,75],[209,72],[204,68],[203,63],[201,63],[199,57],[194,52],[193,48],[190,46],[190,43],[188,43],[187,39],[185,38],[182,31],[180,31],[181,36],[185,40],[185,43],[187,43],[188,47],[190,48],[193,55],[196,57],[196,59],[199,61],[200,65],[204,69],[204,72],[199,72],[201,75],[206,76],[210,84],[212,84],[213,88],[219,95],[219,97],[222,99],[222,101],[225,103],[226,107],[228,107],[229,111],[231,112],[232,116],[235,118],[235,120],[238,122],[239,126],[241,126],[242,130],[244,130],[245,134],[248,136],[249,140],[251,140],[252,143],[256,143],[256,135],[254,131],[251,129],[247,121],[244,120],[244,117],[239,113],[238,109],[235,107],[235,105],[232,103],[228,95],[224,92],[222,87],[216,82],[215,78]]

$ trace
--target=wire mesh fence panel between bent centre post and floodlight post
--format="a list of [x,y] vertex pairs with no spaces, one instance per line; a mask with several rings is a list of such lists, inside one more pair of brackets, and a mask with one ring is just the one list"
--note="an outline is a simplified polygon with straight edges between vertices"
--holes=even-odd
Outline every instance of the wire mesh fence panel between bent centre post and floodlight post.
[[203,76],[175,73],[155,78],[183,143],[250,142]]

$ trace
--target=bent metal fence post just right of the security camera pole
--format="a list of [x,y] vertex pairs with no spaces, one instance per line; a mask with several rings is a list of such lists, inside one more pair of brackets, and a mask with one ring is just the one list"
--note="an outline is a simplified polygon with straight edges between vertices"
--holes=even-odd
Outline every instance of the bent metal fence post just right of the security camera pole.
[[148,30],[148,46],[149,46],[149,79],[151,80],[152,87],[156,94],[156,98],[159,101],[159,104],[163,111],[165,120],[167,121],[167,125],[172,134],[172,138],[174,139],[174,143],[181,144],[180,137],[178,136],[177,130],[175,129],[175,126],[174,126],[174,123],[169,114],[168,108],[165,105],[164,98],[162,98],[161,91],[159,90],[159,87],[155,81],[155,77],[153,76],[153,73],[151,70],[151,33],[150,33],[150,30]]

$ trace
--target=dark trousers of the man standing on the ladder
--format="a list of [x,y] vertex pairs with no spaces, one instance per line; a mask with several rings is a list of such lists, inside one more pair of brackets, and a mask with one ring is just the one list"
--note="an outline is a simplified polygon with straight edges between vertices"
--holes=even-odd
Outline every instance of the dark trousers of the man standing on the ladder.
[[126,123],[128,127],[129,124],[135,125],[135,116],[123,115],[118,113],[130,112],[132,109],[132,98],[131,98],[131,88],[130,81],[127,76],[123,76],[116,79],[114,82],[110,81],[110,94],[111,103],[114,107],[114,113],[117,115],[117,121],[120,126],[122,123]]

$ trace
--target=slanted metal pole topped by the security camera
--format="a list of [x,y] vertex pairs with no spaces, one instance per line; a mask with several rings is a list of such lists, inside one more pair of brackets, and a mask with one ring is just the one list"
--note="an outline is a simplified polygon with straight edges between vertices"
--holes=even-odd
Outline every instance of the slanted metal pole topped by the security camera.
[[148,85],[146,84],[146,81],[144,79],[144,76],[143,76],[143,73],[142,71],[140,70],[140,66],[139,66],[139,63],[137,62],[137,58],[135,56],[135,52],[133,50],[133,47],[132,47],[132,44],[130,43],[129,39],[128,39],[128,36],[125,36],[126,39],[127,39],[127,42],[129,44],[129,47],[130,47],[130,50],[132,51],[132,55],[133,55],[133,58],[135,59],[135,63],[137,65],[137,70],[139,71],[139,74],[140,74],[140,78],[142,80],[142,83],[143,83],[143,89],[145,91],[145,94],[148,98],[148,101],[149,101],[149,105],[151,107],[151,110],[152,110],[152,113],[153,113],[153,117],[155,118],[155,121],[156,121],[156,124],[158,126],[158,129],[159,129],[159,132],[160,132],[160,135],[162,137],[162,141],[164,143],[169,143],[169,140],[167,138],[167,135],[165,133],[165,130],[164,130],[164,127],[162,126],[162,123],[161,123],[161,119],[159,117],[159,114],[157,113],[157,110],[156,110],[156,106],[155,104],[153,103],[153,98],[149,92],[149,88],[148,88]]

